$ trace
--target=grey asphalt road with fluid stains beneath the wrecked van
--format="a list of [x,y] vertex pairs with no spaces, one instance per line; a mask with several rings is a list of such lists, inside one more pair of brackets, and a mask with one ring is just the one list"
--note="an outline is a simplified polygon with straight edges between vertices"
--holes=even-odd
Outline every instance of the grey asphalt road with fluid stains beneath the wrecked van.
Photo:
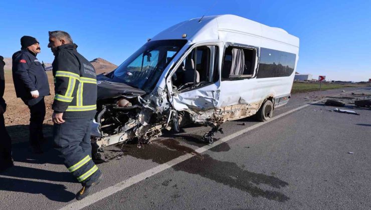
[[98,165],[105,180],[81,201],[50,143],[39,156],[13,144],[16,166],[0,174],[0,209],[370,209],[371,110],[306,105],[341,93],[294,94],[268,123],[224,123],[210,146],[200,142],[209,128],[187,127],[140,148],[107,147],[112,160]]

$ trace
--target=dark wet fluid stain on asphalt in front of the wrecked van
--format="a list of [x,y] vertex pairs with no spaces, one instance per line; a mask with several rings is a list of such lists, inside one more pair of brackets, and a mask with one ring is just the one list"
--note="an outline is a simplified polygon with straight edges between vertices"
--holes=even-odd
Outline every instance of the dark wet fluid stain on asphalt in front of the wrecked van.
[[[144,148],[137,148],[134,144],[124,144],[122,148],[124,151],[123,155],[130,155],[145,160],[150,159],[158,164],[168,162],[183,154],[191,153],[195,156],[174,165],[172,168],[201,175],[218,183],[243,190],[252,196],[262,196],[280,202],[290,199],[279,191],[265,190],[258,186],[259,184],[266,184],[274,188],[281,188],[288,186],[289,183],[272,175],[250,172],[238,166],[235,162],[217,160],[208,154],[200,154],[193,148],[180,145],[175,139],[159,139],[153,141],[152,144],[145,144]],[[219,152],[228,151],[229,149],[229,146],[222,143],[215,146],[214,150]]]

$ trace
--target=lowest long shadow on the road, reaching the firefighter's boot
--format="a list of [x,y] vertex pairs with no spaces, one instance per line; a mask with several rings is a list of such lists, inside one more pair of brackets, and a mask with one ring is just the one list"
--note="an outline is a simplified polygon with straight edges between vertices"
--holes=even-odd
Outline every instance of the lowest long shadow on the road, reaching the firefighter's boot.
[[[66,186],[63,184],[54,184],[15,178],[0,177],[0,190],[43,194],[51,200],[60,202],[68,202],[75,198],[75,194],[67,191]],[[27,208],[27,206],[23,206],[22,208]]]

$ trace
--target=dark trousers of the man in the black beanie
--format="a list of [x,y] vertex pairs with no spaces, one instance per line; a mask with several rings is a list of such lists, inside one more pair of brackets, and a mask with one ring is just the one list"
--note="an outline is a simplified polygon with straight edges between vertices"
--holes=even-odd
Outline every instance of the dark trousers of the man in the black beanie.
[[40,145],[44,141],[43,122],[45,118],[45,101],[44,96],[39,96],[31,100],[22,100],[29,106],[30,117],[30,144],[32,146]]

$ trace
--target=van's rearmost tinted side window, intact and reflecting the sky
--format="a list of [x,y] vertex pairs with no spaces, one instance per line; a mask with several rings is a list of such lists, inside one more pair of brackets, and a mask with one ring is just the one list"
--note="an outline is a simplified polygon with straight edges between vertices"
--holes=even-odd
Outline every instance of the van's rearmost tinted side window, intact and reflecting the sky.
[[294,71],[296,55],[269,48],[260,48],[257,78],[289,76]]

